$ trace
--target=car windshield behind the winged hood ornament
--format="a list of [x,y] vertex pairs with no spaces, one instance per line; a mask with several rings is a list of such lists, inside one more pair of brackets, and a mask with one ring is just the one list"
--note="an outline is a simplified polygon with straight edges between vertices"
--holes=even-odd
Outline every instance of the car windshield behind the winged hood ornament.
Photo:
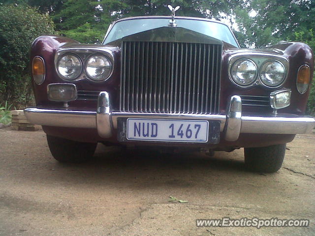
[[[113,28],[105,38],[104,44],[116,41],[134,33],[165,27],[168,24],[169,18],[143,18],[120,21],[114,24]],[[230,29],[223,24],[191,19],[176,19],[176,24],[178,27],[203,33],[232,44],[235,47],[239,47]]]

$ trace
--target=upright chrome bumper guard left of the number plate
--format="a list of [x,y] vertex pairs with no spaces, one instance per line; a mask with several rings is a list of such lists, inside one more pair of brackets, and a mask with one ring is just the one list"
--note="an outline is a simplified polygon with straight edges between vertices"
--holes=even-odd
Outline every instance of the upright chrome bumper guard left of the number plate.
[[98,95],[96,126],[100,137],[110,138],[112,136],[112,122],[108,92],[100,92]]

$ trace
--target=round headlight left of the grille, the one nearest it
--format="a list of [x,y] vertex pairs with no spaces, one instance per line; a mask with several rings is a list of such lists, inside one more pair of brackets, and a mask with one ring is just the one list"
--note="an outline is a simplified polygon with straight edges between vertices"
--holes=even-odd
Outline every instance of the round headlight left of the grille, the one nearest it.
[[112,71],[110,60],[103,55],[92,55],[87,59],[85,72],[94,81],[106,80]]

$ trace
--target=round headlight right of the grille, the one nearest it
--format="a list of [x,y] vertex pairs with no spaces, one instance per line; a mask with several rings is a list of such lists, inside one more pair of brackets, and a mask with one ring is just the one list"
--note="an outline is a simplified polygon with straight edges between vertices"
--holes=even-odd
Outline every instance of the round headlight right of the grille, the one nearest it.
[[252,84],[257,76],[257,66],[250,59],[239,59],[231,67],[233,81],[241,86]]

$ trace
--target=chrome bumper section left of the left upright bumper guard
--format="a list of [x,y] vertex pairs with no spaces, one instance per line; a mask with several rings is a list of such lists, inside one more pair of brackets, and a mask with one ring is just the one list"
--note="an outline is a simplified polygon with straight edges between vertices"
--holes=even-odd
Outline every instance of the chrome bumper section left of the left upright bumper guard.
[[72,128],[96,128],[96,112],[27,108],[24,110],[24,114],[32,124]]

